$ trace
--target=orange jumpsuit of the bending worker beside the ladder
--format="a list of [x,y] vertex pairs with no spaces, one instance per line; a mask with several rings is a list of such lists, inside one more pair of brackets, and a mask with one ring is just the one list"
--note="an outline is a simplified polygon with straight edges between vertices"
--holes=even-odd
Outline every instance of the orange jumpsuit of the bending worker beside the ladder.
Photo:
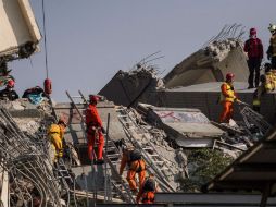
[[126,180],[129,184],[129,187],[133,192],[137,192],[137,183],[135,180],[136,173],[138,173],[139,178],[139,188],[141,187],[145,178],[146,178],[146,163],[142,159],[130,161],[129,160],[129,153],[124,153],[123,158],[121,160],[121,166],[120,166],[120,174],[123,174],[123,171],[125,169],[126,163],[128,165],[128,172]]

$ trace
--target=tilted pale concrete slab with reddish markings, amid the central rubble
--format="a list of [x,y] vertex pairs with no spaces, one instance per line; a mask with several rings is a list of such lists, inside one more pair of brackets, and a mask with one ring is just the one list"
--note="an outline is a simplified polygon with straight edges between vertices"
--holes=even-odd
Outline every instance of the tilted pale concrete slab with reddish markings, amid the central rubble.
[[213,141],[224,134],[198,109],[139,104],[138,110],[143,111],[149,122],[163,129],[181,147],[211,147]]

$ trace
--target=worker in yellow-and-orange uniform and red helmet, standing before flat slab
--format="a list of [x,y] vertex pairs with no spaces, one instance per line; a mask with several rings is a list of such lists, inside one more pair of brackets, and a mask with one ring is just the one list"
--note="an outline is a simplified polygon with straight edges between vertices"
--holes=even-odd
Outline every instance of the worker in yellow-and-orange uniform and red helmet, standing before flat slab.
[[229,120],[233,118],[233,104],[235,101],[239,102],[239,99],[236,96],[236,93],[234,90],[234,74],[227,73],[226,74],[226,81],[221,86],[221,102],[223,105],[223,112],[221,113],[219,122],[226,122],[229,123]]

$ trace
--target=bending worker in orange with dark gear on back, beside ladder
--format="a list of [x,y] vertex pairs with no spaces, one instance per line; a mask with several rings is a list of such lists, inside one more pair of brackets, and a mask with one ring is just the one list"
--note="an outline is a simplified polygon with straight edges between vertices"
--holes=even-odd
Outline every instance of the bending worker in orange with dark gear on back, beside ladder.
[[138,149],[134,149],[134,147],[123,148],[123,158],[121,160],[120,166],[120,175],[123,174],[126,165],[128,165],[126,180],[129,184],[133,194],[136,194],[137,193],[137,183],[135,179],[136,173],[138,173],[139,176],[139,188],[141,187],[146,178],[146,163],[142,160],[141,153]]

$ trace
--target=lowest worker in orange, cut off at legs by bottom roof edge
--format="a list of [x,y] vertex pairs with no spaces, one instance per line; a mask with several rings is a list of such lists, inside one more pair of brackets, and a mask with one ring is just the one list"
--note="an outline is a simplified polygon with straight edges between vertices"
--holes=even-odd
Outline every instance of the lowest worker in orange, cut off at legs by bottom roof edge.
[[154,174],[150,174],[142,186],[139,188],[139,193],[136,197],[137,204],[153,204],[155,198],[155,193],[158,192],[158,183],[155,181]]

